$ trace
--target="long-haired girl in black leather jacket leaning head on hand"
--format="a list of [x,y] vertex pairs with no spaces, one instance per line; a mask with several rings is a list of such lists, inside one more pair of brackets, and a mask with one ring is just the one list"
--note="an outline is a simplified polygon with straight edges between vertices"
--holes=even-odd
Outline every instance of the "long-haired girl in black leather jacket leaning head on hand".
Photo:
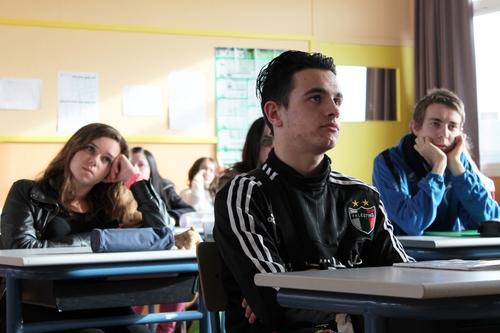
[[[125,195],[130,193],[134,200]],[[137,209],[134,206],[137,202]],[[37,180],[16,181],[1,216],[2,249],[90,246],[94,228],[165,227],[165,204],[128,159],[121,134],[105,124],[80,128]],[[58,312],[23,304],[28,321],[133,314],[130,308]],[[142,325],[82,332],[148,332]]]

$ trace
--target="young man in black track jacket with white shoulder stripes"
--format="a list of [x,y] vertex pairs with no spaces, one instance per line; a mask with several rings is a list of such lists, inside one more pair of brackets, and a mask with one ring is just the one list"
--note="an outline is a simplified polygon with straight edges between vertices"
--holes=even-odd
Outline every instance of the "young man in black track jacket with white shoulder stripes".
[[330,168],[342,93],[332,58],[287,51],[264,67],[257,93],[274,149],[217,195],[214,237],[225,263],[229,332],[315,332],[335,314],[282,308],[256,273],[409,261],[378,192]]

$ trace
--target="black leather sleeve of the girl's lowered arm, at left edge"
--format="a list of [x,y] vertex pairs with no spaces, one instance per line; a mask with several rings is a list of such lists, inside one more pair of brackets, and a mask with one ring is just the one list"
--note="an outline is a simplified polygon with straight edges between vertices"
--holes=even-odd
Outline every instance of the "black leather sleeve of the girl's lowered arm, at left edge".
[[[64,241],[50,241],[40,238],[41,231],[37,230],[39,219],[45,218],[46,213],[36,210],[29,196],[33,181],[16,181],[7,195],[1,217],[1,247],[3,249],[23,249],[64,246],[89,246],[88,234],[75,234]],[[54,209],[57,209],[54,206]],[[39,216],[40,215],[40,216]]]

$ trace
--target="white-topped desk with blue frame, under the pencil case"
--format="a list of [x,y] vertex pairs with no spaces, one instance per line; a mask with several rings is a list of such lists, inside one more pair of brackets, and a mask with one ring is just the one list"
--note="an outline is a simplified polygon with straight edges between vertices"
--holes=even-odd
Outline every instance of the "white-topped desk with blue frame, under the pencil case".
[[[64,280],[111,276],[147,277],[165,273],[197,273],[195,251],[168,250],[144,252],[92,253],[90,248],[49,248],[0,251],[0,275],[6,278],[7,332],[65,331],[69,328],[146,324],[161,321],[200,320],[202,332],[210,332],[208,312],[157,313],[22,324],[20,280]],[[135,305],[135,304],[130,304]]]

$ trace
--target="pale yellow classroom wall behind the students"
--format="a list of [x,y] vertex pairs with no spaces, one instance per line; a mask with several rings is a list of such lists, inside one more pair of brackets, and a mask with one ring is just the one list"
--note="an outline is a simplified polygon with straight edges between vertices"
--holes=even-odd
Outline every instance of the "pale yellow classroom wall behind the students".
[[[33,178],[67,139],[55,132],[59,70],[97,72],[100,120],[122,131],[131,146],[149,148],[180,190],[191,163],[215,155],[214,47],[326,53],[337,44],[401,49],[406,84],[400,119],[344,124],[332,153],[335,168],[370,181],[374,154],[406,131],[411,112],[411,0],[0,0],[0,76],[43,80],[41,110],[0,110],[0,206],[12,182]],[[207,77],[205,127],[170,130],[166,113],[122,117],[123,85],[158,83],[172,70],[189,68]]]

